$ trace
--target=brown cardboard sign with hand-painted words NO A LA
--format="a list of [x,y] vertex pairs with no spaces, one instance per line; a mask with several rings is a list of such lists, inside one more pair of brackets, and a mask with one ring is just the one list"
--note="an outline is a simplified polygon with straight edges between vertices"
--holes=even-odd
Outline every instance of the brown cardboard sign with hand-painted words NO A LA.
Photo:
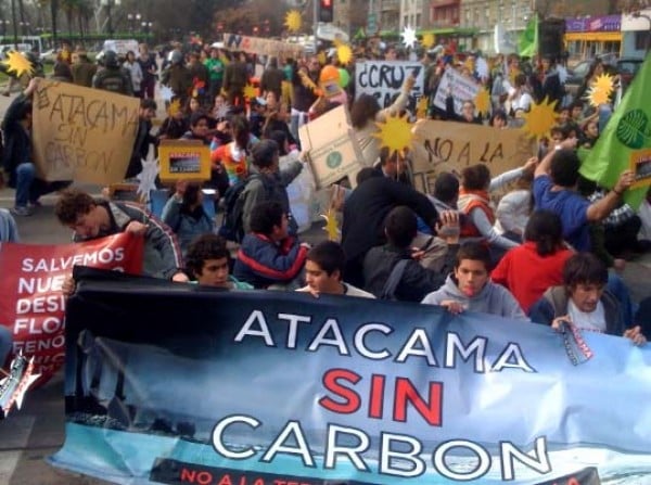
[[524,165],[535,154],[535,143],[516,129],[420,120],[413,129],[412,150],[414,187],[431,194],[442,171],[460,174],[469,165],[484,163],[495,177]]

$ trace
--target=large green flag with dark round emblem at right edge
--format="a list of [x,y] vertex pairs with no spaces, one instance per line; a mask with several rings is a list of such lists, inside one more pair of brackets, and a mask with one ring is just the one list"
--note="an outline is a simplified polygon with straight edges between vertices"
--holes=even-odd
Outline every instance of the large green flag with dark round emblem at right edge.
[[651,186],[651,55],[642,64],[597,143],[580,166],[580,174],[612,189],[620,174],[630,168],[636,182],[624,201],[637,208]]

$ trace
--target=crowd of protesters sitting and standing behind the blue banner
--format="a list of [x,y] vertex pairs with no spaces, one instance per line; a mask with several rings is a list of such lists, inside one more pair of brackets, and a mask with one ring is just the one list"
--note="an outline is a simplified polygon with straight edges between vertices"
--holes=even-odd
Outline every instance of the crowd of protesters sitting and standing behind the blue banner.
[[[373,97],[356,97],[352,85],[342,87],[344,97],[327,97],[319,89],[322,73],[331,66],[354,68],[340,65],[334,50],[326,59],[263,59],[219,42],[190,49],[175,44],[158,71],[146,46],[125,60],[104,52],[99,67],[77,49],[68,81],[141,99],[141,124],[125,179],[142,169],[150,144],[169,139],[208,145],[210,178],[176,183],[162,221],[131,204],[97,201],[77,189],[63,191],[56,216],[77,240],[122,231],[142,234],[144,273],[152,277],[228,290],[421,302],[554,328],[571,323],[642,344],[650,322],[636,314],[617,272],[651,245],[638,239],[642,220],[622,199],[634,176],[625,170],[610,190],[598,187],[582,178],[576,154],[577,148],[595,145],[613,111],[613,103],[591,107],[580,94],[608,66],[595,61],[583,91],[573,98],[564,89],[566,73],[558,60],[510,55],[490,66],[478,52],[459,55],[449,46],[439,47],[421,59],[430,118],[516,129],[534,103],[556,103],[558,125],[520,168],[492,174],[486,165],[472,164],[459,174],[439,174],[433,193],[419,192],[409,153],[390,153],[373,137],[376,122],[405,113],[414,78],[407,78],[386,109]],[[356,50],[358,60],[399,56],[391,46]],[[67,75],[61,63],[55,66],[59,78]],[[472,100],[456,113],[449,92],[445,110],[434,105],[446,68],[489,90],[488,116],[480,115]],[[153,127],[157,77],[174,97],[166,100],[167,117]],[[259,95],[245,95],[251,84],[259,86]],[[69,184],[39,180],[34,169],[29,99],[37,85],[36,79],[29,82],[3,122],[3,165],[9,184],[16,188],[17,216],[31,214],[40,195]],[[292,181],[309,170],[298,128],[342,103],[349,107],[365,168],[355,183],[341,183],[346,192],[340,207],[341,242],[312,247],[301,239],[288,194]],[[281,157],[290,154],[281,168]],[[505,186],[511,190],[505,192]],[[218,235],[217,220],[226,218],[225,202],[235,187],[242,189],[243,238],[228,241]],[[205,208],[205,189],[214,194],[216,217]],[[0,229],[4,227],[13,226]],[[2,235],[15,238],[9,234]],[[73,291],[74,285],[66,288]]]

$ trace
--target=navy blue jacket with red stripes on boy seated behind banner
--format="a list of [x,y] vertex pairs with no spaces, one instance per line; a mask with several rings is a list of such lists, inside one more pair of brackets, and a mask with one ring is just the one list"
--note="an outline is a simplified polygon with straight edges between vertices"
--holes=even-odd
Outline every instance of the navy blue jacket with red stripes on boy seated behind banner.
[[248,233],[238,251],[233,276],[256,289],[289,283],[303,269],[306,256],[307,247],[294,237],[277,244],[267,235]]

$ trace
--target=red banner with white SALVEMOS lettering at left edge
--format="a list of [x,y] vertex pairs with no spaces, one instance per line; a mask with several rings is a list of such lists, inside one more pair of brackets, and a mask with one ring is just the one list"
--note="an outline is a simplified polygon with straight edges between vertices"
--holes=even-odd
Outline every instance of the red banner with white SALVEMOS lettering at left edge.
[[35,357],[35,373],[51,376],[64,360],[62,292],[75,265],[140,273],[142,238],[128,233],[78,244],[0,246],[0,324],[13,334],[14,353]]

